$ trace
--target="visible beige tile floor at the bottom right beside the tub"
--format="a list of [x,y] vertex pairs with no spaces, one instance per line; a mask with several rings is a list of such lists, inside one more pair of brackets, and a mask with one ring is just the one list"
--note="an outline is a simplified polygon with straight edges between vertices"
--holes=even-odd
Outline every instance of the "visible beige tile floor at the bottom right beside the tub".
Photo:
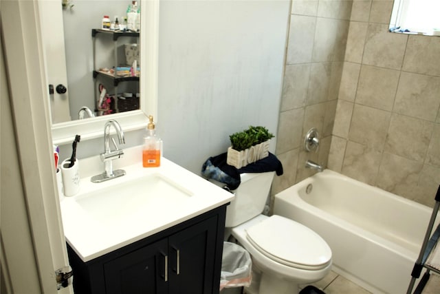
[[[424,271],[423,271],[424,273]],[[408,278],[408,284],[410,278]],[[371,292],[366,291],[364,288],[357,284],[347,280],[342,275],[338,275],[334,271],[331,271],[324,279],[313,284],[317,288],[320,288],[325,294],[369,294]],[[414,289],[413,289],[414,291]],[[436,275],[431,272],[430,280],[426,287],[423,289],[423,294],[438,294],[440,293],[440,275]],[[404,294],[404,293],[402,293]]]

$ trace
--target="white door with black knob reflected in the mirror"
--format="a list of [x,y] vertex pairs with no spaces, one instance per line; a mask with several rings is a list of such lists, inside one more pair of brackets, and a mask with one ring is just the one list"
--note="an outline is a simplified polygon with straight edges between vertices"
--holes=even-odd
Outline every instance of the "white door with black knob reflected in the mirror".
[[[52,87],[50,109],[52,123],[71,120],[69,87],[64,43],[63,8],[60,0],[38,1],[41,21],[41,37],[47,66],[47,81]],[[67,8],[69,9],[69,8]],[[63,87],[66,92],[63,93]]]

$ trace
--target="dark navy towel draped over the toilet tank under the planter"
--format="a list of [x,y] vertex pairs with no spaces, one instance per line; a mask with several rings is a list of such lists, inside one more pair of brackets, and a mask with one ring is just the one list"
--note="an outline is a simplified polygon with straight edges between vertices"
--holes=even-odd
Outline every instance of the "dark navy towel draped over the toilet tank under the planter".
[[283,174],[283,165],[281,161],[274,156],[274,154],[269,153],[269,156],[261,160],[257,160],[241,169],[236,169],[232,165],[228,165],[226,160],[228,154],[225,152],[218,156],[213,156],[208,158],[203,163],[201,168],[201,174],[205,178],[212,178],[219,182],[225,183],[229,189],[235,190],[240,185],[240,174],[244,173],[264,173],[266,171],[275,171],[277,176]]

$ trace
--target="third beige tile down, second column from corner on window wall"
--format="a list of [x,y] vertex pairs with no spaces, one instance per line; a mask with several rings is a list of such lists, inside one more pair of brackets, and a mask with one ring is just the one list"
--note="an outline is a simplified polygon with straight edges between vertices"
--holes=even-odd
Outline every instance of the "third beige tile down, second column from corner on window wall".
[[400,72],[362,65],[356,103],[391,111]]

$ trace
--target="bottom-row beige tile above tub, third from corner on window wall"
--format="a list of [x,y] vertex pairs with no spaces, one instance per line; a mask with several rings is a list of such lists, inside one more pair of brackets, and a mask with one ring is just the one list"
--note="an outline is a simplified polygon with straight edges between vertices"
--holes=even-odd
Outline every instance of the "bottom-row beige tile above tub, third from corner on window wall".
[[384,154],[377,174],[377,187],[409,199],[420,193],[417,188],[419,173],[423,163],[402,158],[394,154]]

